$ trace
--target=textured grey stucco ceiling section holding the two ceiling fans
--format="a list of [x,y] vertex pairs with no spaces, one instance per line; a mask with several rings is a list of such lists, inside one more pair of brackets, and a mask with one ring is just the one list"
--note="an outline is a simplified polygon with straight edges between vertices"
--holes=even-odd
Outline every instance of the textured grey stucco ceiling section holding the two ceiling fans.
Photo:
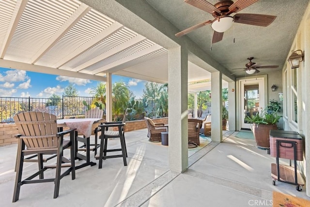
[[[146,1],[180,31],[213,20],[212,15],[183,0],[169,0],[169,3],[167,0]],[[208,1],[215,4],[218,0]],[[277,16],[274,22],[268,27],[234,23],[232,28],[224,32],[222,41],[212,44],[212,50],[211,25],[196,29],[186,36],[227,69],[244,68],[248,63],[247,58],[254,57],[253,62],[257,65],[279,65],[278,69],[260,69],[260,74],[281,70],[308,3],[309,0],[259,0],[239,13]],[[242,70],[235,74],[244,75]]]

